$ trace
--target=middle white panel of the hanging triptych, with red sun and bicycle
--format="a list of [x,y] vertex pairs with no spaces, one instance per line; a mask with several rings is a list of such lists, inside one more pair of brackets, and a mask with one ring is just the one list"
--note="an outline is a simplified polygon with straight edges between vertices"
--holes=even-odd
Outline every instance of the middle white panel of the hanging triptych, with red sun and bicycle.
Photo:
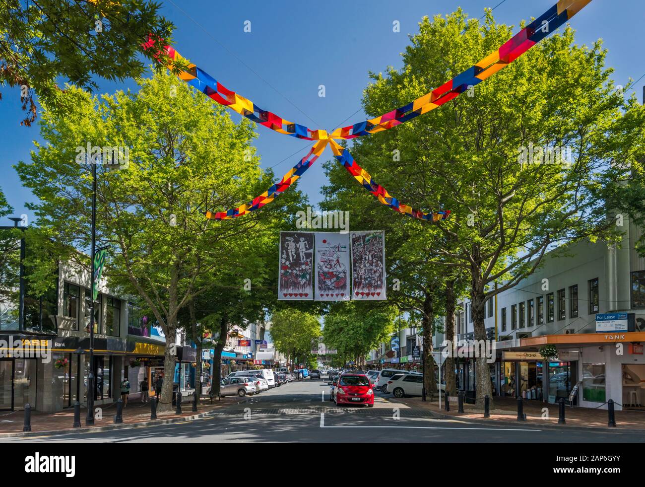
[[316,301],[350,300],[350,235],[316,232]]

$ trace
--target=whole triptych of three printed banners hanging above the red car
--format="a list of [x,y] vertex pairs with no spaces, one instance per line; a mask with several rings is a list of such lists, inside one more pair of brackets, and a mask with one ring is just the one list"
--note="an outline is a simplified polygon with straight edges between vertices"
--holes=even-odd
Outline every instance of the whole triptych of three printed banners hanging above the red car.
[[278,299],[386,299],[385,234],[381,230],[280,232],[279,261]]

